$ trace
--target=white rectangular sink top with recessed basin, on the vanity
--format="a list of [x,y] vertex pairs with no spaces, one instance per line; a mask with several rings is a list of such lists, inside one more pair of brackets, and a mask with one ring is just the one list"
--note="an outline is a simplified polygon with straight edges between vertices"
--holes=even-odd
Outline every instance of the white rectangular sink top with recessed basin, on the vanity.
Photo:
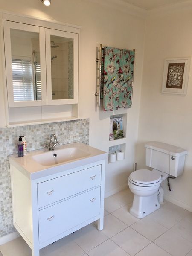
[[106,158],[106,152],[77,142],[56,146],[52,151],[43,148],[27,152],[24,157],[14,154],[9,156],[9,163],[20,169],[30,180],[35,180]]

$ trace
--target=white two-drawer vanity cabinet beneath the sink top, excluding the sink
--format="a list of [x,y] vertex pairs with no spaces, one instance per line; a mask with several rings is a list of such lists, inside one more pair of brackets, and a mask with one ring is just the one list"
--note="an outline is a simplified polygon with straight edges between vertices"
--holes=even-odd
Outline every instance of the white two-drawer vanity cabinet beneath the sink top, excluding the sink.
[[34,180],[10,169],[14,226],[32,256],[93,221],[103,229],[105,160]]

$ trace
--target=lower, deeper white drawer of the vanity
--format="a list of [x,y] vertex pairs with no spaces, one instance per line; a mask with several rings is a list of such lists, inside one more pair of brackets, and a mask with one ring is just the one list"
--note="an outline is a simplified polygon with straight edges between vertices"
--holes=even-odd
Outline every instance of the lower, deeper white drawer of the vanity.
[[100,187],[38,212],[39,244],[100,214]]

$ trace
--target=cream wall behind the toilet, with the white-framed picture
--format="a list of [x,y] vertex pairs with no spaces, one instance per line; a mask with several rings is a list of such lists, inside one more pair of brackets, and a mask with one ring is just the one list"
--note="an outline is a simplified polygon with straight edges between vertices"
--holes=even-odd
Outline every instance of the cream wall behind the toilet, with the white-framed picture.
[[145,38],[138,168],[145,167],[147,141],[161,141],[186,149],[183,175],[170,180],[173,192],[169,192],[166,182],[163,187],[167,199],[192,210],[192,71],[186,96],[161,93],[164,59],[192,56],[192,8],[152,12],[146,22]]

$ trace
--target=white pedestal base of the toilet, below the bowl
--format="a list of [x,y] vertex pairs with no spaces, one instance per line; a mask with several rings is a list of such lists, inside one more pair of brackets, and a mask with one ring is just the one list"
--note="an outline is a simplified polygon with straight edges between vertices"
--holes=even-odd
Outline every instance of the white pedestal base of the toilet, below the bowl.
[[151,196],[134,195],[133,205],[129,212],[136,218],[144,218],[150,213],[156,211],[161,206],[158,202],[158,191]]

